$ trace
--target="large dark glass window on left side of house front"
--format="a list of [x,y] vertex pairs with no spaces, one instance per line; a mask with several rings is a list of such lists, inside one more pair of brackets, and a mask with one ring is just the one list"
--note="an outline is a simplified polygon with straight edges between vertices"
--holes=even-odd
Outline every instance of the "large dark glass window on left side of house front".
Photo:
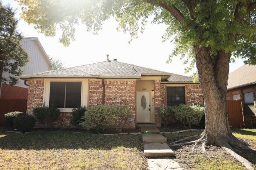
[[51,82],[50,107],[79,108],[82,82]]

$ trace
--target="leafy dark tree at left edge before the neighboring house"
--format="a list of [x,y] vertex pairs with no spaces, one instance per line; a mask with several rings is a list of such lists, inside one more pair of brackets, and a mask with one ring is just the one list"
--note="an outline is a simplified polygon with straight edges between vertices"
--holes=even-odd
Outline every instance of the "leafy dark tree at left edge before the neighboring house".
[[[22,35],[17,24],[15,11],[0,1],[0,82],[11,85],[17,83],[16,76],[22,73],[20,67],[28,62],[28,54],[20,45]],[[2,72],[9,72],[9,77],[2,77]]]

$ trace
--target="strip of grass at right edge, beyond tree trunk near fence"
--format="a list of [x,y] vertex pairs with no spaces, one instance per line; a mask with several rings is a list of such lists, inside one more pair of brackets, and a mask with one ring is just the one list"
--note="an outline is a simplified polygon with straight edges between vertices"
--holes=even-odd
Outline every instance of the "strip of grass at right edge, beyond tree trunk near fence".
[[256,129],[232,128],[231,130],[235,137],[256,141]]

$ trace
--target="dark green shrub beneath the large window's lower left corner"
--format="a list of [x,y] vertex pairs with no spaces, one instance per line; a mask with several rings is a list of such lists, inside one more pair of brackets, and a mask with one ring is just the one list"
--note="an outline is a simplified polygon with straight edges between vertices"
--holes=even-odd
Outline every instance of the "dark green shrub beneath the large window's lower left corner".
[[52,128],[54,121],[56,121],[60,115],[60,109],[42,106],[34,108],[33,113],[36,119],[45,127]]

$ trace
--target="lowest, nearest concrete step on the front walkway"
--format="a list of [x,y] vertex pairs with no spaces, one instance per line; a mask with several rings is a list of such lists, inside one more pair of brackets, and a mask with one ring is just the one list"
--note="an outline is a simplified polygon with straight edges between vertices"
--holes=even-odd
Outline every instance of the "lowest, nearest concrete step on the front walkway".
[[174,152],[167,143],[145,143],[144,155],[146,157],[167,157],[174,156]]

